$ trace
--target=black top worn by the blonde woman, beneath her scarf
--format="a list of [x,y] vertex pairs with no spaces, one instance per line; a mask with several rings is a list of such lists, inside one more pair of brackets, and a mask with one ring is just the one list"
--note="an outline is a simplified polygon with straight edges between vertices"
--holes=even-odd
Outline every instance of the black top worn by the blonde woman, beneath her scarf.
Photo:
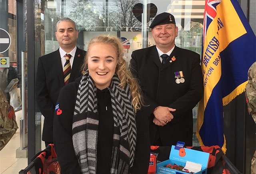
[[[79,82],[80,79],[65,85],[61,89],[57,103],[62,113],[59,115],[57,115],[56,112],[54,113],[54,149],[58,156],[62,174],[81,173],[72,142],[72,122]],[[112,153],[113,115],[109,90],[98,90],[97,98],[100,116],[96,172],[97,174],[102,174],[106,173],[106,171],[110,171],[111,160],[109,159]],[[102,100],[102,98],[104,98],[104,100]],[[147,174],[150,158],[150,139],[148,119],[142,111],[136,113],[136,128],[137,139],[132,174]]]

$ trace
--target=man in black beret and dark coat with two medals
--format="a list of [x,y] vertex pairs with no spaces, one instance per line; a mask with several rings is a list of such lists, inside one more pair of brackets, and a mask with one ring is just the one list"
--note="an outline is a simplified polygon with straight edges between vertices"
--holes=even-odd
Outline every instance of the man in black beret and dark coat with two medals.
[[156,46],[132,52],[130,70],[144,94],[151,145],[192,146],[192,108],[203,94],[200,55],[175,46],[178,28],[170,13],[156,16],[150,30]]

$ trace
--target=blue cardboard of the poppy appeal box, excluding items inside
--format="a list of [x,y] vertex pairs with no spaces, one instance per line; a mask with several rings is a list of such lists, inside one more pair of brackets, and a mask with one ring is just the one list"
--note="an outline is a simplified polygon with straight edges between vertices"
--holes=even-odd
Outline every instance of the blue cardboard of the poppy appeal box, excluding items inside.
[[169,160],[157,164],[157,174],[188,174],[188,172],[174,170],[166,167],[167,164],[176,164],[178,166],[182,165],[183,167],[185,167],[187,161],[188,164],[189,162],[192,162],[202,165],[201,170],[199,172],[195,172],[194,174],[207,174],[207,165],[210,154],[197,150],[181,148],[182,147],[179,147],[177,145],[172,146]]

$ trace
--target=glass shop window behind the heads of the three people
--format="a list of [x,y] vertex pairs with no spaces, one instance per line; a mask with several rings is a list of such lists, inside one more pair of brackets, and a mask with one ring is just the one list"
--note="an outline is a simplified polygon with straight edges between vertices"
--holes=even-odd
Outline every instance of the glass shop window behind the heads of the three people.
[[[38,3],[35,1],[38,8],[35,15],[35,40],[40,48],[36,50],[38,56],[59,48],[55,37],[56,23],[68,17],[76,22],[79,48],[87,50],[88,41],[100,34],[118,36],[129,62],[132,51],[155,44],[149,26],[162,12],[170,12],[175,17],[179,30],[176,46],[201,55],[205,0],[42,0],[41,4]],[[144,15],[146,4],[148,13]],[[194,132],[196,116],[197,106],[193,109]],[[194,145],[198,145],[196,143]]]

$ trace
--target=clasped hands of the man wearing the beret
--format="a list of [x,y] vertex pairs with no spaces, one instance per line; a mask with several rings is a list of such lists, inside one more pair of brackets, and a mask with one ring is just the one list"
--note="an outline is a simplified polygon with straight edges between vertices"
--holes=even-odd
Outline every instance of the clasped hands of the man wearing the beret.
[[154,124],[158,126],[164,126],[168,122],[173,119],[173,115],[170,112],[174,112],[176,109],[165,107],[165,106],[158,106],[156,110],[154,110],[153,114],[155,118],[153,119]]

